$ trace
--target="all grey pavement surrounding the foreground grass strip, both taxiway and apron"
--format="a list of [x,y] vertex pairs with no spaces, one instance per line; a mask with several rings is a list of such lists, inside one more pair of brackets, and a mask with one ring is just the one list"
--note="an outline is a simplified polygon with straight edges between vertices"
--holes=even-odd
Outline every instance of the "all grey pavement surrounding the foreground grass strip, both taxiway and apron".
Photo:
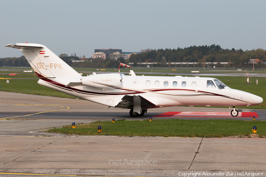
[[[69,125],[72,122],[90,123],[112,118],[148,119],[170,111],[229,112],[230,110],[176,106],[150,109],[143,117],[137,118],[131,118],[128,111],[107,109],[107,106],[85,100],[1,91],[0,172],[5,173],[0,175],[12,176],[8,174],[12,172],[32,173],[28,176],[33,176],[33,173],[181,176],[180,172],[231,171],[233,173],[239,170],[266,174],[265,138],[70,136],[40,131]],[[256,120],[266,120],[266,111],[263,109],[243,111],[257,112],[259,117]],[[153,119],[162,118],[176,119],[176,117],[153,117]],[[214,119],[215,117],[178,118]]]

